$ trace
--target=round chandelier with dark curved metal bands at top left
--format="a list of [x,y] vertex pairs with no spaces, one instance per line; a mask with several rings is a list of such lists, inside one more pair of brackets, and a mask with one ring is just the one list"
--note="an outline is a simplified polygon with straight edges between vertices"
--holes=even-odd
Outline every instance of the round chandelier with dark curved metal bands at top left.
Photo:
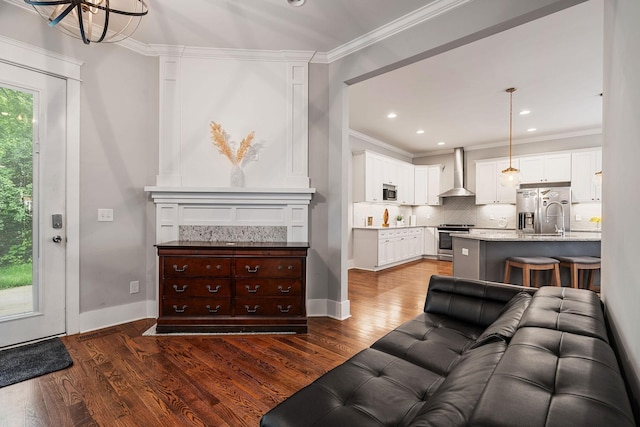
[[24,0],[50,27],[84,44],[115,43],[130,37],[149,12],[145,0]]

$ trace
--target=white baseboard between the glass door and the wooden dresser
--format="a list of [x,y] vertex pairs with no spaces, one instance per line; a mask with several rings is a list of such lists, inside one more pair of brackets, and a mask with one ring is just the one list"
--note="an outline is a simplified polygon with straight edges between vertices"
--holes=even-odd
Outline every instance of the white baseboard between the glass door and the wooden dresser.
[[[149,312],[149,308],[154,308],[155,305],[155,301],[145,300],[80,313],[80,333],[156,317],[155,314]],[[155,311],[155,308],[153,310]]]

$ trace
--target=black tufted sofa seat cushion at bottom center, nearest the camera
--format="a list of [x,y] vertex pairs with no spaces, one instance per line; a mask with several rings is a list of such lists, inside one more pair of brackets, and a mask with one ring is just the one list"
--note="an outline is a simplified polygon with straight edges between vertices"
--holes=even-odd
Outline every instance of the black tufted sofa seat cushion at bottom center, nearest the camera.
[[443,377],[395,356],[366,349],[282,402],[261,426],[398,426],[406,424]]

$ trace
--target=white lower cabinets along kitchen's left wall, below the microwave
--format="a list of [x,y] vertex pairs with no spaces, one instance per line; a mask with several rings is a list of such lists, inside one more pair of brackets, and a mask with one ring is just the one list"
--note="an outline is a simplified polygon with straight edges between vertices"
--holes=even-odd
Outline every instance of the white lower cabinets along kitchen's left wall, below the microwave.
[[423,227],[353,231],[353,259],[356,268],[376,271],[422,257]]

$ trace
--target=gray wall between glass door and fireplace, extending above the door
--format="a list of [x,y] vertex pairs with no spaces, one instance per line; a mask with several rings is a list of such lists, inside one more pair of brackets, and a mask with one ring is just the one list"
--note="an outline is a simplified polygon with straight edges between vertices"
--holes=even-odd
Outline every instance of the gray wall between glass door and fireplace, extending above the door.
[[[85,46],[0,2],[0,34],[84,61],[80,126],[80,311],[155,298],[155,214],[142,191],[158,165],[158,61]],[[97,222],[112,208],[114,222]],[[129,294],[129,282],[140,293]]]

